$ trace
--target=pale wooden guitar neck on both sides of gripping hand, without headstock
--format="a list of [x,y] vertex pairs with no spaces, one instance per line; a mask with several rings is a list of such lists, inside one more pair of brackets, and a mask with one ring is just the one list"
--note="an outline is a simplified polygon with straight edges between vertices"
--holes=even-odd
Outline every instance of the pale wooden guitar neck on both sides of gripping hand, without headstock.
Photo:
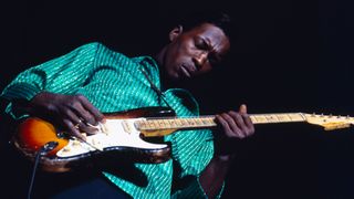
[[[140,130],[208,128],[217,126],[215,118],[215,115],[180,118],[148,118],[147,121],[139,121],[135,125]],[[250,118],[253,124],[305,122],[302,113],[252,114]]]

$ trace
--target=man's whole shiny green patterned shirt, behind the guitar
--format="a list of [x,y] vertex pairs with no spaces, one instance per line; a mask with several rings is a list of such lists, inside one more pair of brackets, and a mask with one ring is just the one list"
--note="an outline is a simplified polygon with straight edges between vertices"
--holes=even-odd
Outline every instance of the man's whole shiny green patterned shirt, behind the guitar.
[[[10,102],[6,112],[17,119],[25,113],[12,106],[11,101],[29,101],[43,91],[83,94],[103,113],[166,106],[143,71],[160,87],[158,66],[152,57],[131,59],[100,43],[90,43],[22,72],[1,97]],[[178,116],[198,115],[198,105],[187,91],[171,88],[163,93]],[[198,176],[212,158],[211,132],[180,130],[164,139],[171,143],[170,160],[135,164],[146,176],[147,185],[137,185],[110,171],[102,174],[134,198],[206,198]]]

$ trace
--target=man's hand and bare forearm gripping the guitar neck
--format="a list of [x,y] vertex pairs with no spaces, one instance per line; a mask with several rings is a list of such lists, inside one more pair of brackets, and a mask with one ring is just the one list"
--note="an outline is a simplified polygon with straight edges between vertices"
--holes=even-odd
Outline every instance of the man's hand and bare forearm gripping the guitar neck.
[[235,158],[233,145],[239,139],[251,136],[254,127],[247,115],[246,105],[239,112],[228,112],[216,116],[216,122],[221,130],[216,135],[216,155],[199,177],[199,182],[209,198],[215,198],[222,188],[232,159]]

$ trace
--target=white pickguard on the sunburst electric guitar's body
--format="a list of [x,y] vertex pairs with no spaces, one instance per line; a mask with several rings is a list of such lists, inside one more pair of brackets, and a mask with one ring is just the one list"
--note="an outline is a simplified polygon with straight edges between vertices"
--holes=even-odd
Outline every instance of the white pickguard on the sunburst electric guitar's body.
[[140,138],[140,132],[134,126],[134,122],[145,118],[106,119],[96,134],[86,137],[86,143],[79,139],[70,139],[69,144],[56,153],[58,157],[71,157],[86,154],[93,150],[103,150],[106,147],[133,147],[139,149],[160,149],[165,144],[152,144]]

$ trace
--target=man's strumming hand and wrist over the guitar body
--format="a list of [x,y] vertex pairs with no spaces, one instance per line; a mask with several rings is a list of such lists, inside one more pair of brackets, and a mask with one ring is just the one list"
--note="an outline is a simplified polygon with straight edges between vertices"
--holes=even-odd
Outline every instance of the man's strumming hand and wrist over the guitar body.
[[103,121],[103,114],[83,95],[62,95],[42,92],[28,104],[31,115],[61,125],[72,136],[85,139],[80,130],[90,133],[92,125]]

